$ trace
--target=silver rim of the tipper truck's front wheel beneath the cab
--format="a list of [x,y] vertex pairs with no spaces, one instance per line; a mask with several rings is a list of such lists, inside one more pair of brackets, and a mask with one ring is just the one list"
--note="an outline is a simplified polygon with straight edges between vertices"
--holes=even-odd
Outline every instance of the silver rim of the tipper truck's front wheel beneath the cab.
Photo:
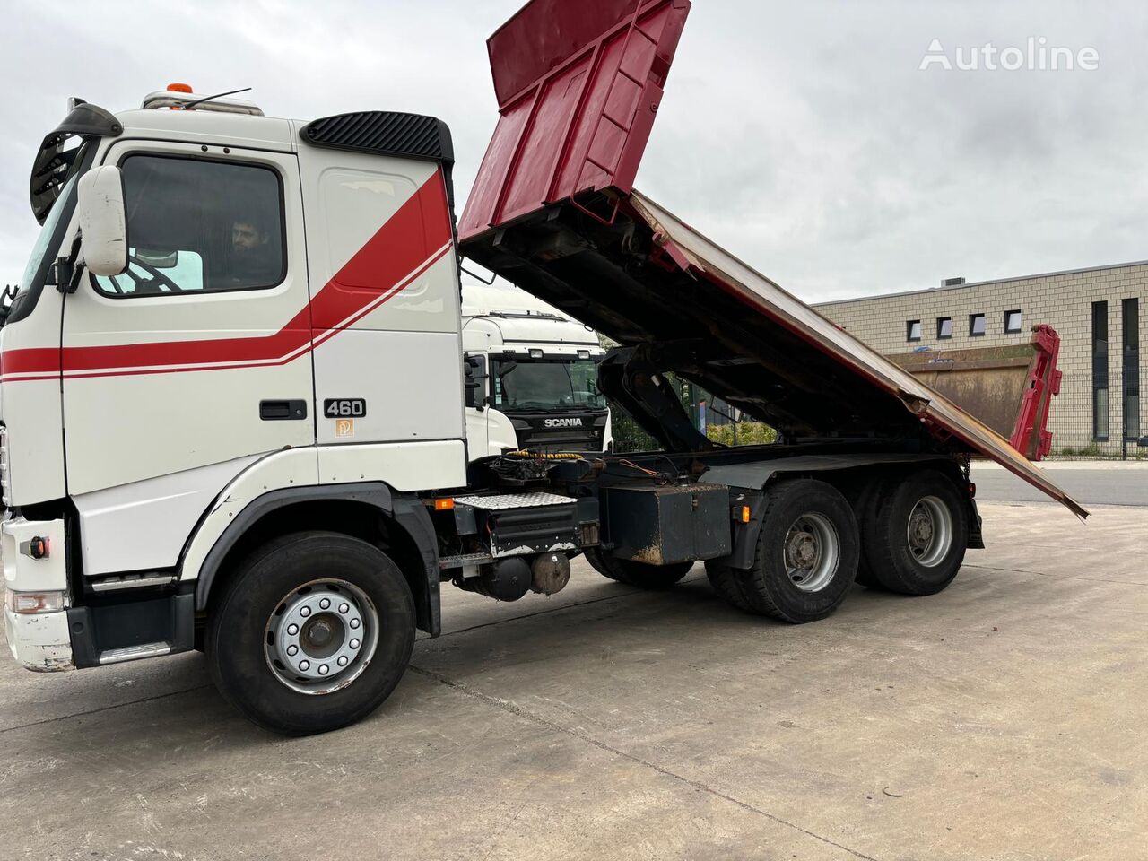
[[300,693],[332,693],[358,678],[379,644],[379,613],[346,580],[312,580],[282,597],[263,638],[276,678]]

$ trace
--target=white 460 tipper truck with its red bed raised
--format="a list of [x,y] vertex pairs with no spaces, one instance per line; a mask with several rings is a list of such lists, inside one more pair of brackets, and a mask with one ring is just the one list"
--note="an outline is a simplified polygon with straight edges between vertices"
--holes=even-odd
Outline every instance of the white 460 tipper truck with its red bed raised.
[[[457,228],[433,117],[273,119],[188,87],[116,115],[76,101],[34,160],[42,227],[0,331],[15,659],[202,649],[248,718],[316,732],[390,693],[442,583],[552,594],[583,552],[667,588],[703,561],[735,607],[808,622],[856,580],[948,585],[983,545],[974,453],[1084,515],[634,189],[688,9],[533,0],[504,24],[502,117]],[[619,343],[598,389],[661,450],[471,463],[460,254]],[[668,372],[778,443],[715,445]]]

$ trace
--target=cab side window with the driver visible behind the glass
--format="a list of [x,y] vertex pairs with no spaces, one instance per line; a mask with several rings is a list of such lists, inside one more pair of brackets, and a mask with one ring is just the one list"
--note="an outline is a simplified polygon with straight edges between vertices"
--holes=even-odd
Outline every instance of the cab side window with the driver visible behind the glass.
[[270,168],[132,155],[121,164],[129,264],[109,296],[274,287],[287,271],[282,191]]

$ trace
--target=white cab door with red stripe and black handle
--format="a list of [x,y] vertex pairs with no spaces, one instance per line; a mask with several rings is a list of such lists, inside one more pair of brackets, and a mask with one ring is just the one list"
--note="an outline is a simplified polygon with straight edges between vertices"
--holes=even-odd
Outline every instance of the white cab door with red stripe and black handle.
[[127,140],[104,163],[122,171],[130,263],[85,273],[64,303],[69,492],[230,463],[209,471],[225,483],[250,456],[312,445],[295,156]]

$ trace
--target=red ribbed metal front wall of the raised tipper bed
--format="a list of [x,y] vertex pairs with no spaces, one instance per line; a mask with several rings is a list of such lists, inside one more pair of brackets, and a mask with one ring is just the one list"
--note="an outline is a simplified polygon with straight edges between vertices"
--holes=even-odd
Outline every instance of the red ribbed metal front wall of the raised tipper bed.
[[502,116],[460,240],[580,192],[629,193],[689,9],[534,0],[487,40]]

